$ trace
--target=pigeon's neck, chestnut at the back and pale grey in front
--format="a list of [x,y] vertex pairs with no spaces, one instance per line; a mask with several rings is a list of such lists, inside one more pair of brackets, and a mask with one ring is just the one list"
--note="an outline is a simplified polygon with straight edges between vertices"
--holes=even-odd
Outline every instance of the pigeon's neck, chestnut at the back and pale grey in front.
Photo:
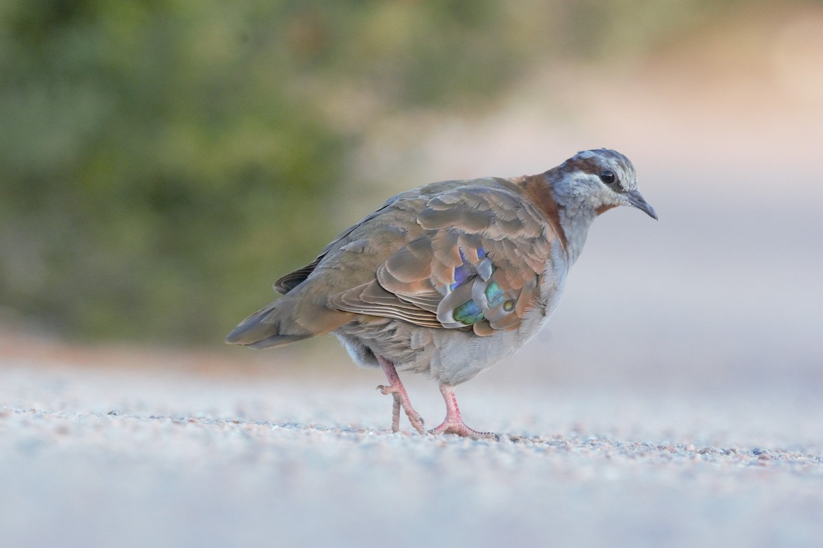
[[564,184],[563,177],[553,175],[547,172],[518,177],[513,182],[546,215],[551,228],[560,237],[570,264],[574,264],[583,251],[588,227],[600,212],[575,200],[572,188]]

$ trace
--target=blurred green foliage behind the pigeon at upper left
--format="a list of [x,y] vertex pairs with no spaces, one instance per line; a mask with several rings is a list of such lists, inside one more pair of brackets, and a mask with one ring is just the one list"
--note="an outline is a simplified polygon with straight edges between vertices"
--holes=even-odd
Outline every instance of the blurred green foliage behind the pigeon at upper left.
[[72,336],[221,340],[343,228],[375,119],[480,108],[536,59],[648,48],[716,3],[6,0],[0,303]]

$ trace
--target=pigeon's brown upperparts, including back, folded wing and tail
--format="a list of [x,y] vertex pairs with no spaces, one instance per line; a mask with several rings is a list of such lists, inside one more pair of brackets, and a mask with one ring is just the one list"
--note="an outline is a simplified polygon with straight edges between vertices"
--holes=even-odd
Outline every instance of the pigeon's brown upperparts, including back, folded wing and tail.
[[481,336],[517,329],[539,306],[551,246],[565,246],[546,216],[549,202],[532,198],[545,187],[540,178],[438,182],[395,196],[279,279],[285,296],[227,341],[279,346],[355,315]]

